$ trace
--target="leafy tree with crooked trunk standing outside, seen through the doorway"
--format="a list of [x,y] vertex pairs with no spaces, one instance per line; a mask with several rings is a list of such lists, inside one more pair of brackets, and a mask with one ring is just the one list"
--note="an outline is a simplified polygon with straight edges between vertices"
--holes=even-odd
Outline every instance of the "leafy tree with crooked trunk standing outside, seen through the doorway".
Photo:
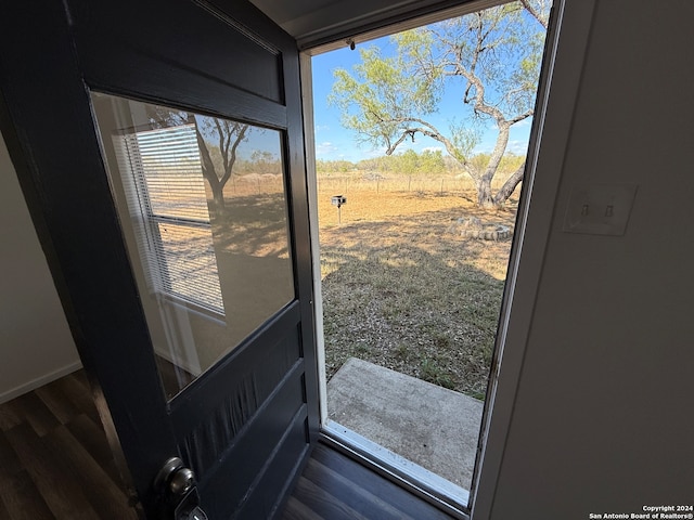
[[[511,127],[532,116],[548,14],[547,0],[524,0],[401,32],[391,37],[394,56],[370,47],[360,50],[354,75],[335,70],[330,100],[345,127],[387,155],[417,134],[438,141],[473,179],[478,204],[501,205],[522,181],[525,162],[496,194],[491,181]],[[432,122],[447,88],[460,92],[467,125]],[[473,161],[480,127],[490,122],[494,147],[484,164]]]

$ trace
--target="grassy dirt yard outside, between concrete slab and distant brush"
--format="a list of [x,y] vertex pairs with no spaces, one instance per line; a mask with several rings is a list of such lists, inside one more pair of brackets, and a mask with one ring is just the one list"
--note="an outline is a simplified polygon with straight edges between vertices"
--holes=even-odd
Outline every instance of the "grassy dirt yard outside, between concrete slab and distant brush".
[[485,211],[450,179],[377,184],[319,179],[327,377],[356,356],[484,398],[511,239],[466,237],[459,219],[512,230],[517,200]]

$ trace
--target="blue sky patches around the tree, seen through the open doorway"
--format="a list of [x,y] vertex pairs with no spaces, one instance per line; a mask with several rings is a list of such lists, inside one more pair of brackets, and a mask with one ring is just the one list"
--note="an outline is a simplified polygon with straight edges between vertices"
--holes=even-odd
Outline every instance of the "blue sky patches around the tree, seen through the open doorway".
[[[390,55],[393,46],[388,38],[381,38],[362,46],[378,46],[384,56]],[[359,143],[356,132],[344,128],[339,122],[339,109],[327,104],[327,96],[332,90],[334,78],[333,70],[345,68],[349,72],[352,66],[360,62],[359,46],[351,51],[348,48],[337,51],[319,54],[312,57],[313,69],[313,118],[316,131],[316,157],[324,160],[350,160],[358,161],[365,158],[384,155],[384,150],[374,150],[369,144]],[[427,120],[435,125],[441,132],[448,134],[449,122],[453,119],[458,123],[464,121],[462,106],[462,92],[448,88],[446,95],[441,100],[438,114],[428,117]],[[496,126],[490,121],[490,128],[484,132],[481,142],[475,148],[475,153],[491,152],[496,140]],[[525,154],[530,134],[531,119],[526,119],[511,128],[511,138],[507,152]],[[396,153],[402,153],[408,148],[413,148],[421,153],[423,150],[441,150],[444,147],[433,139],[417,134],[414,143],[409,141],[402,143]]]

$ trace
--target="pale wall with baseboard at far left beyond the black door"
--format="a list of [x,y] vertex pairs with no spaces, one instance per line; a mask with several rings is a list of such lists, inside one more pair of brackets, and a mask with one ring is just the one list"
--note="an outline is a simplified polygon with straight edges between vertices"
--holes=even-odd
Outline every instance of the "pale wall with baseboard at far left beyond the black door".
[[0,403],[80,366],[4,141],[0,138]]

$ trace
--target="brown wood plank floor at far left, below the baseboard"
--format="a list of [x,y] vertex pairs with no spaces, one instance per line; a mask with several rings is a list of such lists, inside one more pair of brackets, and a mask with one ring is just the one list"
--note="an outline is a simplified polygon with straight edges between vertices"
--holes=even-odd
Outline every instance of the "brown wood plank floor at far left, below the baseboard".
[[138,518],[81,370],[0,404],[0,518]]

